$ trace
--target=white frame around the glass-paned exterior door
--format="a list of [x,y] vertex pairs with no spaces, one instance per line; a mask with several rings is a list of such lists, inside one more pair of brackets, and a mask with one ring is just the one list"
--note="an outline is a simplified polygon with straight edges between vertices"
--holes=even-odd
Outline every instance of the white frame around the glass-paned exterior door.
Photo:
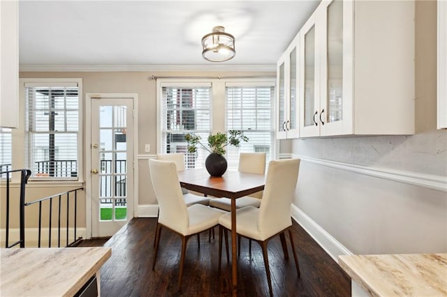
[[133,100],[133,209],[131,209],[131,218],[135,218],[138,210],[138,94],[137,93],[86,93],[85,94],[85,236],[91,238],[91,99],[132,99]]

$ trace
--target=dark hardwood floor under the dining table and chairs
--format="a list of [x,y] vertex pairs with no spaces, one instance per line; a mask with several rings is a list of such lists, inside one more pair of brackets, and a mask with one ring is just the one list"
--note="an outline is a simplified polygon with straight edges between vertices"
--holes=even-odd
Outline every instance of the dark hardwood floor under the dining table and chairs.
[[[79,246],[108,246],[112,257],[101,268],[101,296],[230,296],[231,266],[223,254],[218,271],[218,229],[208,242],[200,234],[200,249],[191,238],[186,249],[182,291],[177,291],[181,241],[167,229],[161,233],[155,270],[155,218],[134,218],[104,243],[105,239],[84,241]],[[269,263],[274,296],[351,296],[351,279],[342,268],[300,227],[293,222],[301,277],[298,278],[288,243],[289,259],[284,259],[279,236],[269,245]],[[288,236],[286,236],[288,238]],[[242,239],[238,264],[238,296],[268,296],[267,277],[261,248],[253,243],[249,257],[248,241]]]

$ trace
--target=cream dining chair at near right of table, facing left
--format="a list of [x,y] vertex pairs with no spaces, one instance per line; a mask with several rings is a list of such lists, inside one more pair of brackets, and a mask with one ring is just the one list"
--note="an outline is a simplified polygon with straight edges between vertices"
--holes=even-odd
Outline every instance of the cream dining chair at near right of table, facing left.
[[[267,245],[270,239],[279,235],[284,251],[284,257],[288,258],[286,236],[288,231],[295,266],[300,277],[300,266],[298,266],[298,258],[293,243],[291,220],[291,204],[295,196],[295,188],[298,180],[298,172],[300,169],[300,159],[272,160],[268,165],[267,176],[265,179],[265,188],[261,206],[246,206],[236,211],[236,231],[237,234],[261,245],[263,250],[263,258],[265,272],[267,273],[268,288],[270,296],[272,292],[272,281],[270,278],[270,268],[268,264]],[[221,266],[222,252],[222,227],[231,229],[231,214],[226,213],[219,218],[219,268]]]

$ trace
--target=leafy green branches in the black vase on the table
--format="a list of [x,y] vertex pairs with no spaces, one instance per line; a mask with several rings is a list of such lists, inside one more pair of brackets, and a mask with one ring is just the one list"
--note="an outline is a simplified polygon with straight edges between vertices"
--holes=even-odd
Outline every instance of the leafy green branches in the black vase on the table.
[[197,146],[200,145],[210,153],[217,153],[219,155],[225,155],[225,147],[228,145],[239,147],[241,140],[243,142],[249,141],[249,137],[245,136],[242,130],[228,130],[228,137],[226,134],[221,132],[217,132],[215,135],[210,134],[207,139],[208,146],[205,146],[202,142],[200,142],[202,137],[199,135],[188,133],[184,139],[188,143],[189,153],[196,153]]

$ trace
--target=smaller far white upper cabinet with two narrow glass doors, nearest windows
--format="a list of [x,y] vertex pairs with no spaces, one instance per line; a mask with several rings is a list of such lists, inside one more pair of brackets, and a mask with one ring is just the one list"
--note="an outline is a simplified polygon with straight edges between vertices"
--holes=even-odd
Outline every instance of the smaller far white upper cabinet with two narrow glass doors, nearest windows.
[[277,63],[277,139],[298,137],[298,36]]

